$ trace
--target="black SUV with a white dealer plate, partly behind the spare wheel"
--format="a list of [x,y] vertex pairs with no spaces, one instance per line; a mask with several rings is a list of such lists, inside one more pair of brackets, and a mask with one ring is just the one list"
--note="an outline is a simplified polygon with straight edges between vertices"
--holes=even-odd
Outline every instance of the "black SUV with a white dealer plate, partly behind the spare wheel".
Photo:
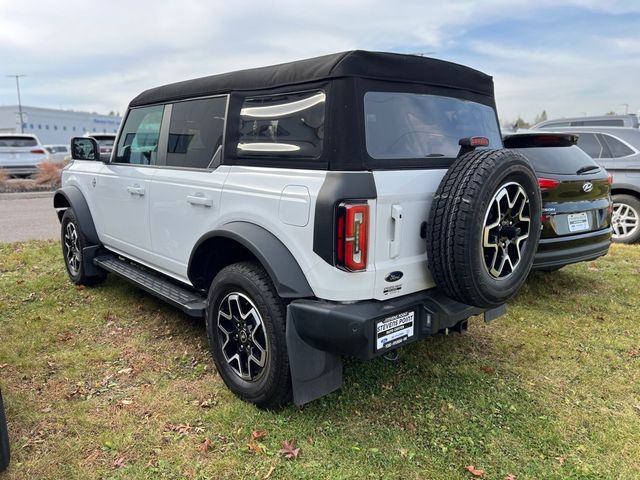
[[507,134],[504,146],[533,165],[542,191],[542,233],[533,263],[557,270],[606,255],[611,243],[612,177],[568,133]]

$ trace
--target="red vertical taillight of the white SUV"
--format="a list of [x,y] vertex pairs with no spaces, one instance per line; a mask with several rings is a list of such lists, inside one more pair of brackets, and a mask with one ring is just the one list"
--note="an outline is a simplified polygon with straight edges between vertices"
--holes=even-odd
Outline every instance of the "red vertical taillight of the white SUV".
[[338,267],[358,272],[367,268],[369,248],[369,205],[347,203],[338,205],[336,219],[336,263]]

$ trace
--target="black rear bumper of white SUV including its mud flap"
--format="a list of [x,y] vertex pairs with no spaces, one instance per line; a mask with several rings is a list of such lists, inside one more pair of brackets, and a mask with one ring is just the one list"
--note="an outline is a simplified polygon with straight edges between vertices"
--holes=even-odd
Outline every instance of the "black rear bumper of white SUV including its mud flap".
[[[505,305],[491,310],[465,305],[435,288],[386,301],[294,300],[286,328],[293,401],[303,405],[340,388],[342,355],[374,358],[446,329],[463,330],[472,315],[484,313],[489,321],[505,311]],[[407,312],[413,312],[413,333],[377,348],[377,323]]]

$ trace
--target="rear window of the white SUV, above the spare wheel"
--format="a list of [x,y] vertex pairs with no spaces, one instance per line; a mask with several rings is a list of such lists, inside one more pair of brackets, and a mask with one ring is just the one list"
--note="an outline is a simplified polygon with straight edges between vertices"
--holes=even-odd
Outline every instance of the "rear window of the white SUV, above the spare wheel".
[[493,108],[469,100],[367,92],[364,112],[367,152],[375,159],[456,157],[458,141],[474,136],[502,148]]

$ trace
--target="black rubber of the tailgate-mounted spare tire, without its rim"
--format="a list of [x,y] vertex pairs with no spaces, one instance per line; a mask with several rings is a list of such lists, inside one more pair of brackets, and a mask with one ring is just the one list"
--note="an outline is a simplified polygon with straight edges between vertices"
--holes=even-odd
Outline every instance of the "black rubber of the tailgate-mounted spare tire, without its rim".
[[[484,260],[484,222],[494,196],[512,183],[528,196],[529,237],[522,242],[513,271],[495,278]],[[428,266],[437,286],[448,296],[480,308],[495,307],[512,298],[533,264],[540,238],[541,204],[535,172],[519,153],[475,150],[456,159],[436,191],[427,223]]]

